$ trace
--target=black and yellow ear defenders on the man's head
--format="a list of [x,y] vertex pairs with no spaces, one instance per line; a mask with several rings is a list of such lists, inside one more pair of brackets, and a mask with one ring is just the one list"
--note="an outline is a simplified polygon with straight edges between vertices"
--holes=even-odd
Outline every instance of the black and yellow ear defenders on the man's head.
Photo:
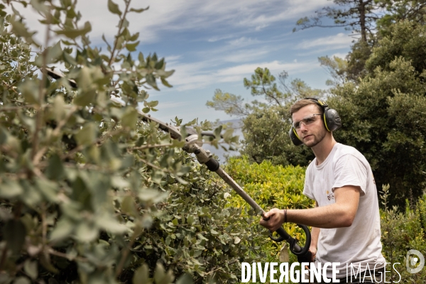
[[[328,104],[326,102],[316,98],[305,99],[309,99],[312,102],[315,102],[322,108],[322,110],[324,111],[324,126],[327,131],[336,131],[337,129],[342,127],[342,120],[340,119],[339,114],[335,109],[329,109]],[[294,129],[293,126],[291,126],[290,131],[288,131],[288,135],[290,136],[290,139],[295,146],[300,146],[303,144],[302,140],[297,135],[296,129]]]

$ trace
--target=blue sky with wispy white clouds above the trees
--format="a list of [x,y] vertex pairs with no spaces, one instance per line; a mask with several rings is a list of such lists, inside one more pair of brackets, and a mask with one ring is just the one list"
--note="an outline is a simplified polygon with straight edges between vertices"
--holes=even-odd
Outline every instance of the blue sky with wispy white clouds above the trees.
[[[114,2],[122,10],[123,2]],[[268,67],[275,77],[285,70],[289,80],[299,78],[310,87],[327,88],[329,75],[318,58],[344,58],[354,40],[351,32],[344,28],[292,30],[299,18],[330,4],[327,0],[133,0],[135,9],[149,6],[129,16],[129,30],[140,33],[136,53],[157,53],[165,58],[166,70],[175,70],[168,79],[172,88],[160,84],[160,92],[148,91],[149,99],[159,102],[152,115],[163,121],[175,116],[184,122],[234,119],[207,108],[206,102],[215,89],[241,95],[246,102],[253,100],[243,80],[257,67]],[[92,44],[106,50],[102,35],[112,42],[119,22],[118,16],[109,13],[107,0],[80,0],[77,10],[82,13],[82,25],[92,23]],[[38,16],[29,12],[22,13],[42,43]]]

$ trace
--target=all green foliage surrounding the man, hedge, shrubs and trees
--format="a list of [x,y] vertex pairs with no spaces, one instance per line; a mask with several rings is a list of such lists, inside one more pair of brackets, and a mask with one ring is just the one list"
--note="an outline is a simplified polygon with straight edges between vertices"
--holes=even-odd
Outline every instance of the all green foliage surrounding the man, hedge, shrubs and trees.
[[[35,42],[17,11],[6,13],[11,2],[40,13],[45,43]],[[383,252],[405,263],[408,249],[425,251],[426,33],[422,13],[417,18],[396,9],[400,1],[385,2],[393,17],[378,22],[375,38],[355,43],[346,62],[321,62],[333,76],[329,104],[347,129],[336,133],[338,141],[366,155],[378,185],[390,184],[383,187]],[[170,87],[173,74],[155,53],[133,53],[139,35],[126,15],[146,9],[125,0],[121,11],[108,1],[118,28],[100,50],[72,1],[3,3],[1,283],[238,283],[241,261],[276,261],[280,245],[268,240],[239,197],[180,151],[183,143],[141,120],[136,109],[155,111],[149,92],[160,83]],[[65,79],[50,80],[44,67],[53,65],[67,70]],[[219,90],[209,103],[246,117],[246,156],[230,159],[226,169],[266,209],[312,206],[300,195],[298,166],[312,153],[291,146],[288,107],[325,94],[300,80],[287,84],[287,77],[283,72],[276,84],[258,68],[244,85],[263,97],[259,102],[243,104]],[[176,118],[175,125],[210,128],[197,122]],[[303,242],[301,231],[285,226]],[[401,276],[422,283],[425,271]]]

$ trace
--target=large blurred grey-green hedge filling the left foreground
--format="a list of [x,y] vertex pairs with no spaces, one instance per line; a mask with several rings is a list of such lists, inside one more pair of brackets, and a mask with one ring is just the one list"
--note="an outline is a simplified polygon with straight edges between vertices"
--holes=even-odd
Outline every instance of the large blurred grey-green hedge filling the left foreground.
[[[240,262],[262,256],[258,232],[224,209],[224,182],[141,120],[173,70],[134,57],[126,16],[146,9],[106,4],[119,22],[106,50],[71,0],[0,4],[0,282],[237,282]],[[44,43],[17,5],[39,14]],[[47,76],[55,65],[64,78]]]

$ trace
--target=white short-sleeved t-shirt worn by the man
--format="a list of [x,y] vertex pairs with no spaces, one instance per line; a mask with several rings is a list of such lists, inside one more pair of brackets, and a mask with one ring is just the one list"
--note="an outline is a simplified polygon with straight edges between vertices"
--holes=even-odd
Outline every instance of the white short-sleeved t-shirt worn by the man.
[[[385,266],[381,250],[380,214],[376,182],[371,167],[361,153],[351,146],[336,143],[326,160],[316,165],[317,159],[307,167],[303,194],[315,200],[318,206],[335,203],[334,190],[345,185],[361,187],[358,211],[349,227],[320,229],[317,261],[339,262],[337,278],[360,271]],[[351,272],[351,265],[354,271]],[[327,277],[332,276],[332,268]]]

